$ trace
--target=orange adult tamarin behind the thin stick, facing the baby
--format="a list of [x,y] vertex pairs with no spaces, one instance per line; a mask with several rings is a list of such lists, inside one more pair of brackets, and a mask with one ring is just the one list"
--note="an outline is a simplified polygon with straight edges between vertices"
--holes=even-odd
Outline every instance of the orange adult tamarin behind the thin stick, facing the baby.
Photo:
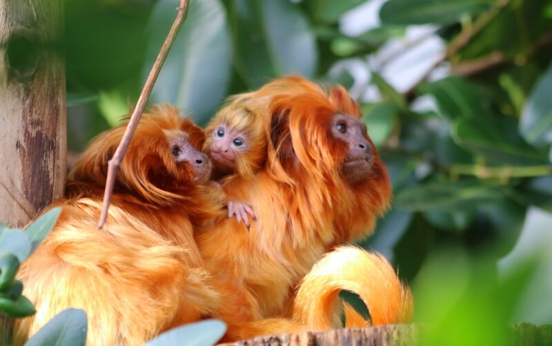
[[37,309],[16,321],[18,345],[68,307],[88,315],[88,345],[144,345],[218,309],[193,239],[221,207],[202,185],[210,176],[203,131],[170,106],[151,112],[130,141],[101,230],[107,163],[126,124],[97,136],[70,174],[54,230],[18,273]]

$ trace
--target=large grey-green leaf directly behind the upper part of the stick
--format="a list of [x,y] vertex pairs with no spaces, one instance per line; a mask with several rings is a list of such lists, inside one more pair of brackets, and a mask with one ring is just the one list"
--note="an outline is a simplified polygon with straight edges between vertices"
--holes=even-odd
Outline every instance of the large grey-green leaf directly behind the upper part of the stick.
[[[150,19],[146,80],[177,15],[178,2],[157,1]],[[172,45],[150,101],[191,112],[198,123],[213,116],[226,95],[231,72],[226,12],[219,0],[190,1],[188,17]]]

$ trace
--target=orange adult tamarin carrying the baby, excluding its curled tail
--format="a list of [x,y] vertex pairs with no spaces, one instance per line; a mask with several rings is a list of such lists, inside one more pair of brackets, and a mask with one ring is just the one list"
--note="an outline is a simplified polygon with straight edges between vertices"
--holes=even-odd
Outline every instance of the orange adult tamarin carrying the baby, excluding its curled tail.
[[[391,184],[354,101],[343,88],[330,96],[314,84],[299,89],[270,96],[264,169],[255,179],[236,175],[223,183],[255,210],[250,232],[221,218],[196,236],[225,302],[215,316],[228,324],[227,340],[304,328],[292,311],[299,282],[333,247],[371,233],[388,207]],[[390,309],[409,306],[406,289],[387,294],[398,302]]]

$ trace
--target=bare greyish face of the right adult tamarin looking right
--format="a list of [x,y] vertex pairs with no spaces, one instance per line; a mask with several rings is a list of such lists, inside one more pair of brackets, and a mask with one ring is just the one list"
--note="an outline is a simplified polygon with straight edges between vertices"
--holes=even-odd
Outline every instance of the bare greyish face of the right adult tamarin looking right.
[[351,116],[337,113],[332,119],[331,134],[348,145],[342,165],[344,179],[355,184],[368,178],[373,164],[373,152],[366,139],[366,125]]

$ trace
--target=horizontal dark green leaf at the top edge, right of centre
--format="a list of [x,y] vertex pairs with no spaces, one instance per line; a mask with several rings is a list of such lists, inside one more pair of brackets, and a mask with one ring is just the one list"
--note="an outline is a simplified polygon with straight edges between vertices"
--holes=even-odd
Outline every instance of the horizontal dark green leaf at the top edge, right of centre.
[[389,24],[447,24],[478,14],[491,3],[491,0],[389,0],[382,6],[380,17]]

